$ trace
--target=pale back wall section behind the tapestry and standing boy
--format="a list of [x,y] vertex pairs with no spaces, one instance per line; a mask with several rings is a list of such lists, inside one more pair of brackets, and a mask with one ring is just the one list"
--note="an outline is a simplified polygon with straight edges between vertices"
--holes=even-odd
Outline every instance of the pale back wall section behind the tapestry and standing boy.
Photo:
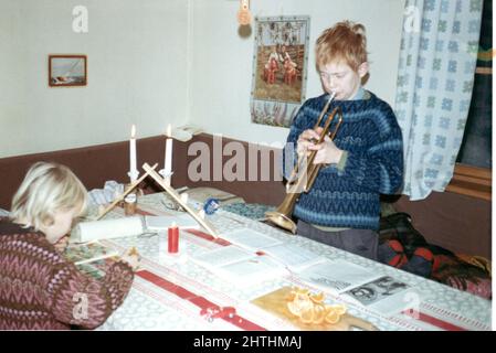
[[[251,142],[283,142],[286,128],[251,124],[250,92],[254,28],[239,34],[239,1],[192,1],[192,62],[189,86],[190,122],[211,133]],[[404,0],[273,0],[251,1],[253,15],[309,15],[310,39],[306,96],[320,95],[314,43],[334,23],[361,22],[368,32],[371,75],[367,88],[393,105]]]

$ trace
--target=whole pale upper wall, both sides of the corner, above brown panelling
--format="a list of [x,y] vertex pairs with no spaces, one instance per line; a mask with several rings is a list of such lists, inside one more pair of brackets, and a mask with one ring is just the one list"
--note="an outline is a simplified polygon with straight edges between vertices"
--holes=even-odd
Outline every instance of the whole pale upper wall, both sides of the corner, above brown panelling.
[[[86,6],[89,32],[72,30]],[[314,43],[350,19],[368,30],[367,87],[394,100],[404,0],[251,1],[254,15],[310,17],[306,96],[321,93]],[[0,158],[162,133],[186,121],[252,142],[287,129],[251,124],[254,31],[239,34],[233,0],[0,0]],[[387,15],[386,15],[387,14]],[[48,55],[88,55],[88,86],[50,88]],[[235,121],[235,124],[233,124]]]

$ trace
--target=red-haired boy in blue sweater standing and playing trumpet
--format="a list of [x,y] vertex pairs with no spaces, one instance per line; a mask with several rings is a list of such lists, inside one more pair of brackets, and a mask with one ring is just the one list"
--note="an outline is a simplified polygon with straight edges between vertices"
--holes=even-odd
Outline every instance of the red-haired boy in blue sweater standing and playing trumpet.
[[[403,145],[391,107],[361,86],[369,71],[366,42],[365,26],[349,21],[318,38],[316,66],[326,94],[304,103],[285,150],[296,145],[297,157],[316,150],[314,164],[324,164],[294,207],[297,234],[376,259],[379,195],[392,194],[402,184]],[[340,107],[342,124],[334,140],[326,137],[316,145],[321,128],[314,126],[329,95],[334,99],[328,111]],[[294,160],[284,164],[287,178]]]

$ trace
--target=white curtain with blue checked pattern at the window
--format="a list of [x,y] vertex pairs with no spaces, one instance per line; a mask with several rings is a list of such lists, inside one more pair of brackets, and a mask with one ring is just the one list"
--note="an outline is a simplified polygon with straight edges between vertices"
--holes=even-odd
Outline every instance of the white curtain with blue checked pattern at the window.
[[444,191],[462,145],[483,0],[407,0],[395,113],[411,200]]

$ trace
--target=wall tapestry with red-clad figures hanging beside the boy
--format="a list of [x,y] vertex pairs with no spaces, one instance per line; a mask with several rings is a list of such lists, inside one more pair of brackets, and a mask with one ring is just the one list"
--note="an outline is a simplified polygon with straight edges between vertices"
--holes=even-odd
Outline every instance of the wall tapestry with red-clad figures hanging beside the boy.
[[289,127],[305,100],[309,17],[255,19],[252,121]]

